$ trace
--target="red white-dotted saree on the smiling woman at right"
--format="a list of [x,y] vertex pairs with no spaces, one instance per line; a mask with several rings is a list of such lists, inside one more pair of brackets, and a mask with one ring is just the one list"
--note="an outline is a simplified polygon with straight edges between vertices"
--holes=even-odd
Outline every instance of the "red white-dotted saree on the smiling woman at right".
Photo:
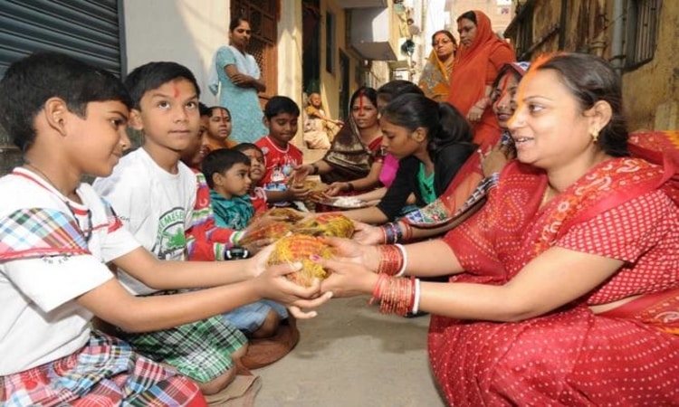
[[626,260],[605,284],[516,323],[433,316],[429,357],[454,405],[679,403],[679,336],[589,305],[679,288],[674,168],[637,158],[596,166],[539,209],[540,170],[508,165],[488,202],[445,236],[467,270],[453,281],[502,285],[551,246]]

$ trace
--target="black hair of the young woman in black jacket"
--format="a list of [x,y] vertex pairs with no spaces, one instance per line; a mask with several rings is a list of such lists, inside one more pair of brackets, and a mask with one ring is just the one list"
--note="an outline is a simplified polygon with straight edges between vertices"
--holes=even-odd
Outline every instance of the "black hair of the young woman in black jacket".
[[397,96],[382,109],[382,119],[410,131],[426,128],[426,149],[432,158],[450,144],[472,143],[472,128],[466,118],[448,103],[436,103],[425,95]]

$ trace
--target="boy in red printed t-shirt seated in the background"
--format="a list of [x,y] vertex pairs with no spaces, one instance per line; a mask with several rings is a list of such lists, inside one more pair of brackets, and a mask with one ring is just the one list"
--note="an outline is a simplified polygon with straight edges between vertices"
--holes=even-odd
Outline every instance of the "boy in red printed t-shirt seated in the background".
[[301,165],[301,150],[290,144],[297,133],[300,108],[294,100],[274,96],[264,107],[264,124],[269,135],[254,144],[262,149],[266,170],[260,186],[266,191],[270,204],[289,206],[291,201],[301,200],[309,194],[309,188],[291,179],[294,167]]

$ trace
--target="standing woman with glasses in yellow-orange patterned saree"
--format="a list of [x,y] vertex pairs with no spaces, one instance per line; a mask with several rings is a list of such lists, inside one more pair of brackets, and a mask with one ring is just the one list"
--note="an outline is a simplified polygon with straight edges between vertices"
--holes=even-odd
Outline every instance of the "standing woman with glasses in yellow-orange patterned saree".
[[457,41],[448,30],[439,30],[432,35],[432,47],[418,85],[427,98],[442,102],[448,99]]

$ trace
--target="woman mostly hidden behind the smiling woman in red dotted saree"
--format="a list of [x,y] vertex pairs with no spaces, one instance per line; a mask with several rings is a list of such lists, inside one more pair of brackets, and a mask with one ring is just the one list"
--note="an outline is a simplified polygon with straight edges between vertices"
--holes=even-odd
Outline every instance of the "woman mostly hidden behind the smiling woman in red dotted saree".
[[[507,161],[514,156],[513,142],[507,129],[509,118],[515,109],[514,95],[519,81],[529,67],[528,62],[512,62],[504,65],[493,82],[493,112],[502,127],[502,137],[487,153],[479,150],[464,163],[455,174],[444,194],[435,202],[409,213],[397,222],[382,226],[363,224],[354,235],[364,244],[404,242],[407,236],[412,240],[441,235],[453,229],[465,216],[478,210],[488,190],[495,185],[496,175]],[[385,164],[386,165],[386,164]],[[483,171],[482,171],[483,168]],[[486,177],[486,178],[484,178]],[[378,192],[376,190],[375,192]],[[367,194],[358,197],[363,200],[372,198]],[[385,238],[388,238],[385,241]]]

